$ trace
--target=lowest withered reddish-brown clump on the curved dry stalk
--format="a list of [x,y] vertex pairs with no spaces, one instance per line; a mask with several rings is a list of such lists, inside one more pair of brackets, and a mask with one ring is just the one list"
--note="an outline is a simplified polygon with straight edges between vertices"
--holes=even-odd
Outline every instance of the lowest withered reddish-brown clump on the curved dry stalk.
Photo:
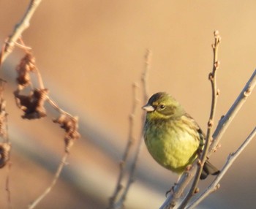
[[74,140],[80,138],[80,134],[78,132],[78,118],[62,114],[59,118],[53,119],[53,122],[59,123],[61,128],[65,130],[65,151],[69,152]]

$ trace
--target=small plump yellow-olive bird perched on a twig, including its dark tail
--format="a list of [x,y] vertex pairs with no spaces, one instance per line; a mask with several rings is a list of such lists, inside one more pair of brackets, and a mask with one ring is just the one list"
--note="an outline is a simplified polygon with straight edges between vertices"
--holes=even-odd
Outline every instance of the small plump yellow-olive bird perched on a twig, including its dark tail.
[[[147,112],[143,134],[149,153],[180,176],[202,151],[205,134],[170,94],[154,94],[142,108]],[[209,174],[218,175],[219,170],[206,161],[200,179]]]

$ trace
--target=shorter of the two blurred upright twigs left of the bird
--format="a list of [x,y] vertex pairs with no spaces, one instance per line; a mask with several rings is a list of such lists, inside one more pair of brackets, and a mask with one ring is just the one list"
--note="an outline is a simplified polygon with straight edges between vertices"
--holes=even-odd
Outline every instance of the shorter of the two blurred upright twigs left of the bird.
[[118,194],[120,193],[121,189],[123,188],[121,181],[124,178],[124,173],[125,173],[124,167],[127,163],[127,159],[128,159],[130,150],[132,148],[132,143],[135,141],[135,137],[134,137],[135,124],[134,123],[135,123],[135,115],[136,115],[136,112],[138,109],[137,88],[138,88],[138,84],[133,83],[133,85],[132,85],[133,102],[132,102],[132,112],[129,115],[129,131],[128,131],[129,134],[128,134],[127,146],[125,148],[124,155],[119,164],[119,176],[118,176],[118,180],[116,183],[116,189],[113,192],[112,197],[110,197],[110,199],[109,199],[108,208],[121,208],[121,205],[123,204],[123,201],[124,201],[124,199],[122,199],[120,201],[121,205],[119,205],[120,204],[119,201],[116,204],[116,199],[118,197]]

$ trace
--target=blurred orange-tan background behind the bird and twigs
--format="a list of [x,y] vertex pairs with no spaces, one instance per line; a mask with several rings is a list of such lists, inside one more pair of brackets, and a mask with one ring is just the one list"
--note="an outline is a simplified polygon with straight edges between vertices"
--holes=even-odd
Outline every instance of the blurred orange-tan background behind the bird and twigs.
[[[0,43],[20,21],[29,1],[1,0]],[[128,136],[132,83],[139,86],[146,49],[153,52],[148,73],[149,94],[167,91],[181,102],[203,130],[211,104],[208,73],[211,44],[219,30],[220,96],[216,122],[244,87],[256,62],[255,1],[42,1],[23,33],[33,48],[37,67],[50,96],[80,118],[82,137],[75,142],[56,187],[37,208],[107,208],[118,177]],[[12,208],[26,208],[46,186],[64,153],[64,130],[48,117],[20,118],[12,92],[15,66],[23,51],[15,49],[1,68],[7,80],[4,98],[12,142],[10,190]],[[138,89],[141,98],[141,88]],[[255,127],[255,92],[244,104],[211,161],[221,168]],[[135,137],[140,139],[139,104]],[[135,142],[135,145],[137,143]],[[134,145],[134,146],[135,146]],[[198,208],[255,206],[255,140],[238,157],[220,183]],[[134,154],[135,147],[132,147]],[[127,164],[129,170],[130,161]],[[0,170],[0,208],[7,208],[7,167]],[[135,183],[126,208],[159,208],[177,175],[160,167],[143,145]],[[203,190],[213,178],[200,183]]]

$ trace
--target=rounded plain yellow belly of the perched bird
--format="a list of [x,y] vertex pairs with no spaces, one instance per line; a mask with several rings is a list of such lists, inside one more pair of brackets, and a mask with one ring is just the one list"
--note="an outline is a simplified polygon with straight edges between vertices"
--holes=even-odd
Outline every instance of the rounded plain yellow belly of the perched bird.
[[[162,127],[163,128],[163,127]],[[182,129],[148,128],[145,142],[151,156],[163,167],[176,173],[184,172],[197,157],[198,133]]]

